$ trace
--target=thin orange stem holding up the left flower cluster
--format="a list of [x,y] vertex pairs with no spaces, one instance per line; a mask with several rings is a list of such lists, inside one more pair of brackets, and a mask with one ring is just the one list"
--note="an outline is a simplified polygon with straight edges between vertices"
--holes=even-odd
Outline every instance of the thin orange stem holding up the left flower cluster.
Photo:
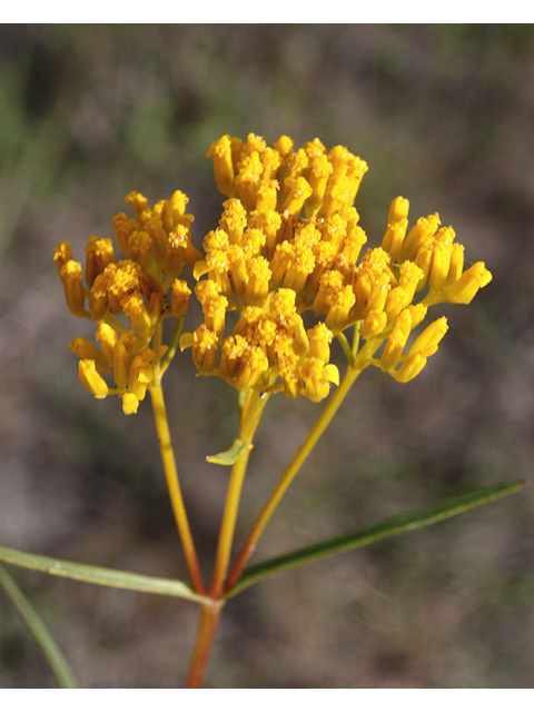
[[184,554],[189,567],[189,575],[191,576],[191,582],[195,591],[204,595],[206,593],[206,590],[204,587],[200,566],[198,565],[197,552],[195,550],[191,530],[189,528],[186,507],[184,505],[184,498],[181,496],[181,488],[178,479],[178,469],[176,467],[175,453],[170,439],[167,409],[165,407],[164,392],[161,389],[160,383],[152,386],[152,388],[150,389],[150,396],[152,398],[154,419],[156,422],[159,449],[161,452],[161,461],[164,463],[170,503],[175,513],[178,533],[180,535],[181,545],[184,547]]

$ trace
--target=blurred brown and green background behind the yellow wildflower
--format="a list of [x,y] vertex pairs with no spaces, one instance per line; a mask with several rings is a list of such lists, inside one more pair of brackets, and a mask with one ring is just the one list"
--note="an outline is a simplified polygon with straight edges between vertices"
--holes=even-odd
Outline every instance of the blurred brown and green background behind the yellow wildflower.
[[[532,26],[2,26],[0,28],[0,543],[187,577],[149,400],[95,400],[67,344],[52,250],[111,235],[123,198],[189,196],[197,245],[221,196],[205,155],[222,134],[342,144],[369,165],[356,207],[369,245],[390,200],[436,210],[494,275],[417,379],[357,382],[289,488],[254,561],[468,492],[534,464]],[[187,322],[186,322],[187,328]],[[336,352],[336,358],[343,359]],[[237,427],[236,393],[165,379],[205,576]],[[320,405],[270,399],[237,538]],[[534,490],[288,572],[222,614],[209,688],[531,688]],[[197,607],[10,566],[81,685],[184,684]],[[0,686],[53,681],[0,595]]]

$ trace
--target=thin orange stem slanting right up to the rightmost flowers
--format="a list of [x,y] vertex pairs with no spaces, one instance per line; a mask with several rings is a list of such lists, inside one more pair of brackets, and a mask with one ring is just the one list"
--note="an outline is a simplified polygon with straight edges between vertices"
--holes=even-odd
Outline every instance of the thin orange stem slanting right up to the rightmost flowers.
[[234,586],[234,584],[238,581],[247,561],[249,560],[250,555],[256,548],[256,544],[258,543],[258,540],[261,536],[263,531],[265,530],[270,517],[273,516],[273,513],[278,506],[278,503],[284,496],[286,490],[291,484],[295,475],[298,473],[298,471],[305,463],[306,458],[316,446],[318,439],[320,438],[320,436],[329,425],[332,418],[337,413],[339,406],[345,399],[345,396],[349,392],[350,386],[354,384],[356,378],[359,376],[359,374],[364,370],[366,366],[367,366],[367,362],[362,359],[356,362],[355,367],[347,368],[347,372],[345,373],[345,376],[343,377],[338,388],[334,392],[325,409],[319,415],[316,424],[309,432],[308,437],[306,438],[304,444],[300,446],[300,449],[295,455],[293,462],[290,463],[290,465],[284,473],[284,475],[279,479],[278,484],[273,491],[273,494],[270,495],[269,500],[267,501],[266,505],[260,512],[258,518],[256,520],[253,526],[253,530],[250,531],[250,534],[248,535],[248,538],[245,542],[245,545],[243,546],[237,557],[234,568],[231,570],[230,575],[228,576],[228,580],[225,585],[225,592],[229,591]]

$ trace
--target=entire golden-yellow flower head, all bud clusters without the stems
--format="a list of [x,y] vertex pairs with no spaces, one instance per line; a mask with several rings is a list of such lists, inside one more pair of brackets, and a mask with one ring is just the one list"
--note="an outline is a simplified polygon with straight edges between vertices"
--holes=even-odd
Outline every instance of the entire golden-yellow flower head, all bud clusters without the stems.
[[[441,317],[411,339],[427,308],[468,304],[492,278],[484,263],[464,269],[464,248],[437,214],[408,230],[400,197],[382,245],[366,248],[353,204],[367,164],[342,146],[327,150],[315,139],[295,149],[283,136],[270,148],[250,134],[246,141],[222,136],[207,156],[227,199],[204,254],[192,246],[194,218],[180,191],[154,208],[140,194],[127,197],[135,217],[113,220],[121,260],[108,238],[89,239],[85,271],[68,244],[55,253],[70,310],[99,324],[101,349],[81,338],[70,345],[80,378],[97,397],[120,395],[126,413],[136,412],[167,348],[162,319],[187,312],[185,266],[204,320],[179,343],[191,348],[199,373],[238,390],[314,402],[339,383],[334,337],[349,367],[375,365],[406,383],[447,330]],[[121,314],[129,328],[117,322]],[[350,350],[344,332],[353,326],[360,347]],[[112,373],[113,388],[102,373]]]

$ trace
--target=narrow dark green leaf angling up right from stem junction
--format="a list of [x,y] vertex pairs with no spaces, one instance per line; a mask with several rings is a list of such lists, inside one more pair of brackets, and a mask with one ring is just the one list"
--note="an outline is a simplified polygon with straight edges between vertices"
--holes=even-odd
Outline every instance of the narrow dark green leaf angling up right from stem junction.
[[348,552],[353,548],[360,548],[367,546],[374,542],[378,542],[396,534],[403,534],[403,532],[409,532],[411,530],[421,528],[435,522],[441,522],[474,507],[479,507],[483,504],[488,504],[494,500],[506,497],[522,490],[527,483],[525,481],[513,482],[510,484],[496,485],[494,487],[484,487],[483,490],[476,490],[468,494],[446,500],[445,502],[438,502],[437,504],[431,504],[419,510],[413,510],[405,514],[397,514],[382,520],[376,524],[366,526],[360,530],[354,530],[335,536],[333,538],[319,542],[318,544],[312,544],[310,546],[304,546],[288,554],[269,558],[268,561],[260,562],[254,566],[248,566],[243,572],[243,576],[226,594],[226,599],[231,599],[243,589],[251,586],[254,583],[273,576],[274,574],[286,571],[287,568],[294,568],[308,564],[319,558],[326,558],[326,556],[333,556],[334,554],[340,554]]

